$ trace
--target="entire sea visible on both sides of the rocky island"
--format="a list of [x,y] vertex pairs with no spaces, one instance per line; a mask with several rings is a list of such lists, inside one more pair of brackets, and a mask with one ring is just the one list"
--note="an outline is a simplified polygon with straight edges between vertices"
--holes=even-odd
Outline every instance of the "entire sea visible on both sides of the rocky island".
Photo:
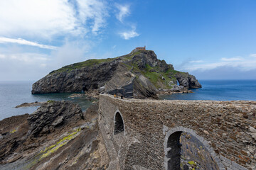
[[[256,80],[199,80],[203,88],[192,89],[192,94],[161,96],[166,100],[215,100],[215,101],[256,101]],[[78,103],[82,111],[92,101],[87,98],[72,98],[71,94],[31,94],[33,81],[0,81],[0,120],[33,113],[38,107],[15,108],[21,103],[48,100],[70,100]]]

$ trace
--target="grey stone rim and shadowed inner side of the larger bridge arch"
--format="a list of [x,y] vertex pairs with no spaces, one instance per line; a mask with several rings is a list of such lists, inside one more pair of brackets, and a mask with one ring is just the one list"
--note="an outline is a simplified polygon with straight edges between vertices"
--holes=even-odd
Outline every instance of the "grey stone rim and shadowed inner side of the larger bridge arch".
[[189,128],[177,127],[177,128],[167,128],[164,125],[164,133],[166,135],[164,140],[164,167],[166,170],[171,169],[181,169],[181,143],[180,137],[182,132],[188,132],[189,134],[196,137],[198,141],[200,141],[204,147],[210,153],[210,156],[213,158],[214,162],[218,165],[218,167],[223,167],[223,163],[220,161],[218,155],[215,154],[214,150],[210,145],[209,142],[204,140],[203,137],[196,134],[195,131]]

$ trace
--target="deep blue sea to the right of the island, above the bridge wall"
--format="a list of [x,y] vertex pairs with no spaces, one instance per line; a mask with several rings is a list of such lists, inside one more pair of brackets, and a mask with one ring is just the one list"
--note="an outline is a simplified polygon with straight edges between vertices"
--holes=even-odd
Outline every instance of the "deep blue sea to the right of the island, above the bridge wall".
[[256,101],[256,80],[199,80],[192,94],[161,96],[166,100]]

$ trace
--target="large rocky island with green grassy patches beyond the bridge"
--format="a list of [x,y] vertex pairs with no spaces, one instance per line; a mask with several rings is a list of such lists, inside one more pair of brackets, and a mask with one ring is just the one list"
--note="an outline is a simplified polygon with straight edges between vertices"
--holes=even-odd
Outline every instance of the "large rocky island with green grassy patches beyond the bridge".
[[[142,81],[142,77],[143,81]],[[195,77],[174,70],[171,64],[158,60],[154,51],[133,50],[128,55],[112,59],[87,60],[50,72],[36,81],[32,94],[94,91],[125,91],[134,98],[157,98],[156,89],[173,89],[176,82],[186,88],[200,88]],[[133,82],[132,82],[133,81]],[[134,82],[136,83],[134,84]],[[125,92],[124,92],[125,94]]]

